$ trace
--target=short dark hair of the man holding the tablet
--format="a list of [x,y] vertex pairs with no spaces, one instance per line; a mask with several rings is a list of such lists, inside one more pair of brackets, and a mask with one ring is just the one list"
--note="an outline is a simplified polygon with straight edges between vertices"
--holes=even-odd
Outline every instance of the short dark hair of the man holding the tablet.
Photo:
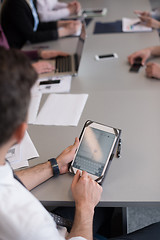
[[23,53],[0,47],[0,145],[26,121],[36,79],[37,73]]

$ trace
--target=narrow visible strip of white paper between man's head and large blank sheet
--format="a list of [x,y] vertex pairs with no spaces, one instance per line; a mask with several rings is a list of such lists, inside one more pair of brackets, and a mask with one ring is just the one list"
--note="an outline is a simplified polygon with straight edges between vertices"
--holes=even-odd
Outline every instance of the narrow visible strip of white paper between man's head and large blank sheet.
[[[35,89],[35,88],[34,88]],[[36,120],[39,105],[41,102],[42,93],[38,92],[37,89],[31,94],[31,101],[28,111],[28,123],[32,124]]]

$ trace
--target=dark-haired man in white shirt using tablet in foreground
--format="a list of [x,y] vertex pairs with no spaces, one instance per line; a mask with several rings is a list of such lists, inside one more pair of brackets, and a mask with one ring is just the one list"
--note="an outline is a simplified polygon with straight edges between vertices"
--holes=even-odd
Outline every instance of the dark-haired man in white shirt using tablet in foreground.
[[[0,48],[0,239],[64,239],[55,222],[41,203],[14,178],[5,160],[8,149],[20,143],[27,128],[30,89],[37,74],[29,60],[20,52]],[[60,174],[67,172],[73,159],[78,139],[55,160]],[[53,176],[51,162],[22,170],[17,174],[31,189]],[[55,171],[57,174],[57,171]],[[86,172],[79,172],[72,182],[75,218],[66,238],[92,239],[94,208],[100,200],[102,188]]]

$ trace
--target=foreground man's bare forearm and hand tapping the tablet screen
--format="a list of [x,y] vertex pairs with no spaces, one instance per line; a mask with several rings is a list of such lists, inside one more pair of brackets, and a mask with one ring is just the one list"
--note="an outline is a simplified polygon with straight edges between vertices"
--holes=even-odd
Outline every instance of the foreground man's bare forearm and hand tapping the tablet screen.
[[86,172],[80,176],[79,171],[77,171],[71,189],[76,210],[73,227],[67,239],[81,236],[87,240],[92,240],[94,208],[100,200],[102,187],[92,180]]

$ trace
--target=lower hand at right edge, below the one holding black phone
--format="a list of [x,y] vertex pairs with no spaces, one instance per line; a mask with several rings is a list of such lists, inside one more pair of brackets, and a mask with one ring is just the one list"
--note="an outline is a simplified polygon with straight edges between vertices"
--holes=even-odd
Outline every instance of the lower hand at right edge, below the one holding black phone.
[[147,77],[154,77],[160,79],[160,64],[158,63],[147,63],[146,65]]

